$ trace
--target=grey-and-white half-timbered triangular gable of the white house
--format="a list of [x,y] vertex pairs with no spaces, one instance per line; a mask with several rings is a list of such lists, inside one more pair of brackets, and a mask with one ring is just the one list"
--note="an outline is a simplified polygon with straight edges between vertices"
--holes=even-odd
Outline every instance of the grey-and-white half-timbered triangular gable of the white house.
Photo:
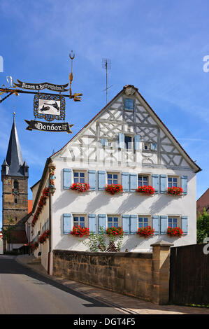
[[[131,91],[130,91],[131,90]],[[124,108],[124,99],[134,100],[134,111]],[[119,135],[140,138],[140,150],[119,148]],[[105,141],[105,142],[104,142]],[[103,147],[103,143],[105,146]],[[145,151],[143,145],[156,144]],[[52,155],[75,162],[108,162],[129,167],[161,165],[201,170],[189,158],[171,132],[134,86],[124,87],[64,148]]]

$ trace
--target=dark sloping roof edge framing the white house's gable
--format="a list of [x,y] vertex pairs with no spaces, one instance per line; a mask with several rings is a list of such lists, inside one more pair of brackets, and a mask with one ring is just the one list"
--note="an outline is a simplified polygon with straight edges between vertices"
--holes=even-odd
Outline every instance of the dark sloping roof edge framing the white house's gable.
[[138,93],[140,99],[143,99],[143,102],[145,102],[146,106],[148,106],[148,108],[151,110],[152,114],[154,115],[155,119],[159,121],[159,123],[165,128],[165,130],[168,132],[168,134],[170,135],[170,137],[173,139],[173,141],[175,142],[175,144],[177,144],[177,147],[180,149],[180,151],[182,151],[182,153],[184,153],[185,158],[187,158],[187,160],[190,162],[190,164],[192,164],[192,167],[194,167],[196,169],[196,172],[201,172],[201,168],[196,165],[196,162],[194,162],[192,160],[192,158],[189,157],[189,155],[187,154],[187,152],[185,151],[184,148],[182,148],[182,146],[180,145],[180,143],[177,141],[177,139],[175,139],[175,137],[173,136],[173,134],[170,132],[170,130],[168,130],[168,128],[166,127],[166,125],[164,125],[164,123],[161,121],[161,119],[159,118],[159,116],[157,116],[157,114],[154,112],[154,110],[152,109],[152,107],[145,101],[145,99],[143,98],[143,96],[140,94],[140,92],[138,92],[138,88],[135,87],[134,85],[125,85],[123,87],[123,89],[118,92],[118,94],[110,101],[108,102],[108,104],[106,104],[106,106],[103,107],[103,109],[101,109],[101,111],[99,111],[99,113],[96,114],[96,116],[94,116],[94,118],[92,118],[92,120],[89,121],[89,123],[87,123],[84,127],[82,127],[82,129],[77,132],[77,134],[75,134],[75,136],[73,136],[70,141],[68,141],[62,148],[59,149],[59,151],[57,151],[56,153],[53,153],[50,158],[55,158],[55,155],[57,155],[57,153],[59,153],[60,151],[62,151],[69,143],[71,143],[71,141],[73,141],[73,139],[75,139],[75,137],[77,137],[83,130],[85,130],[85,128],[87,126],[89,126],[90,123],[92,123],[92,121],[94,121],[96,118],[98,118],[98,116],[106,110],[106,108],[117,98],[120,96],[120,94],[122,94],[122,92],[124,92],[124,90],[127,87],[134,87],[134,89],[136,90],[136,92]]

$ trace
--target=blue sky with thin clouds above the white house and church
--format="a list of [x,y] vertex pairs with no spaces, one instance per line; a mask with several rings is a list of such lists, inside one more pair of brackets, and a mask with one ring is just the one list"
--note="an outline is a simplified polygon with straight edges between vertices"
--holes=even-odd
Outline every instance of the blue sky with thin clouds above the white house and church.
[[[203,169],[197,174],[199,198],[208,188],[209,169],[209,72],[203,71],[203,57],[209,55],[208,10],[207,0],[0,0],[0,84],[6,84],[6,76],[68,83],[73,50],[72,90],[83,94],[80,103],[66,99],[66,121],[74,124],[75,134],[106,104],[101,60],[110,58],[108,99],[124,85],[138,87]],[[0,104],[1,163],[15,106],[29,187],[41,178],[52,151],[73,136],[25,130],[24,119],[34,118],[33,102],[33,95],[20,95]]]

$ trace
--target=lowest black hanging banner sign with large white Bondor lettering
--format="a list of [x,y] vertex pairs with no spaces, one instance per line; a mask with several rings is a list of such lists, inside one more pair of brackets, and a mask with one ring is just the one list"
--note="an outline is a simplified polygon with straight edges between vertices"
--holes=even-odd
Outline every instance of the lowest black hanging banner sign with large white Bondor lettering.
[[71,127],[73,125],[69,125],[69,123],[44,123],[42,121],[37,120],[24,120],[28,127],[27,130],[39,130],[42,132],[67,132],[68,134],[72,134]]

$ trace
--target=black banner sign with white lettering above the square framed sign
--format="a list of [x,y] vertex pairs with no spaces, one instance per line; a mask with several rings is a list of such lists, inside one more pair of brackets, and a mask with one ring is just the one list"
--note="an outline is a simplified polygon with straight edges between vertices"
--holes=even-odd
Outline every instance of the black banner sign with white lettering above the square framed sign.
[[66,87],[69,85],[69,83],[66,83],[66,85],[54,85],[53,83],[24,83],[18,79],[17,81],[18,83],[14,83],[15,87],[30,90],[49,89],[54,92],[66,92],[68,90]]

